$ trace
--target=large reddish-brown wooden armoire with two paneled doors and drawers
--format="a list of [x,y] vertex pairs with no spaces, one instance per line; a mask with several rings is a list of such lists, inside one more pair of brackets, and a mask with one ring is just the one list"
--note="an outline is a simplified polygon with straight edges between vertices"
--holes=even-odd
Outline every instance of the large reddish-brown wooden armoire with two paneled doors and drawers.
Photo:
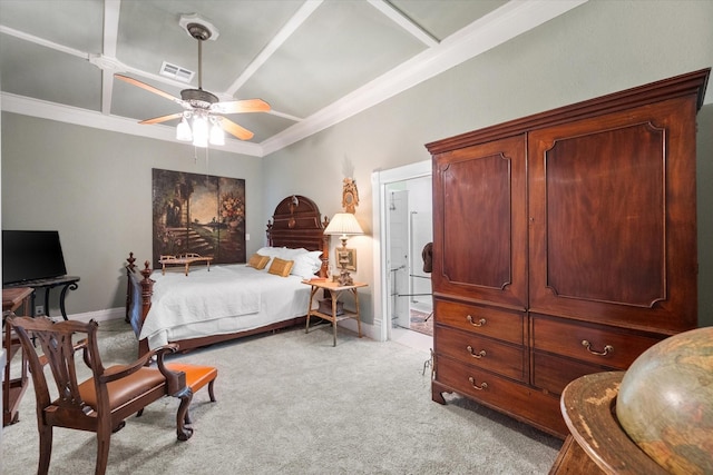
[[697,325],[710,69],[428,144],[432,398],[565,437],[564,387]]

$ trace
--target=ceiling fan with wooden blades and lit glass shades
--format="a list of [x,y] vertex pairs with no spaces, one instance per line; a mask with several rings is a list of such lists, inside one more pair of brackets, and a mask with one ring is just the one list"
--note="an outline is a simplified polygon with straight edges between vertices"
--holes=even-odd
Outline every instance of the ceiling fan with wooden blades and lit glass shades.
[[[188,31],[188,34],[198,41],[198,89],[184,89],[180,91],[180,98],[177,98],[168,92],[149,86],[146,82],[129,78],[128,76],[118,73],[114,75],[117,79],[138,86],[149,92],[154,92],[180,105],[184,108],[182,112],[141,120],[139,123],[150,125],[173,119],[180,119],[180,123],[176,128],[176,138],[178,140],[193,141],[197,147],[207,147],[208,140],[213,145],[224,145],[224,130],[241,140],[250,140],[253,137],[253,132],[242,126],[238,126],[228,118],[223,117],[223,115],[266,112],[270,110],[270,105],[262,99],[244,99],[221,102],[217,96],[203,90],[202,47],[203,41],[211,38],[212,31],[207,26],[199,22],[187,23],[186,30]],[[193,127],[188,125],[188,120],[191,119],[193,121]],[[208,126],[211,126],[209,133]]]

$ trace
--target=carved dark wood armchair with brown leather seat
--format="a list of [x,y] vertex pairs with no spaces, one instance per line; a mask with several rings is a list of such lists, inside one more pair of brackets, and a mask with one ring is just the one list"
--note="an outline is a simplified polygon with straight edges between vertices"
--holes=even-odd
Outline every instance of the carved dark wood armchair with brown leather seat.
[[[183,372],[172,372],[164,365],[164,355],[177,349],[166,345],[128,365],[105,368],[97,344],[96,321],[52,323],[45,317],[10,317],[22,350],[28,357],[37,398],[37,426],[40,438],[38,474],[47,474],[52,453],[52,427],[90,431],[97,434],[95,473],[104,474],[109,457],[111,433],[124,427],[125,419],[148,404],[167,395],[180,398],[176,415],[179,441],[187,441],[193,429],[185,427],[193,393]],[[86,336],[72,343],[72,336]],[[38,355],[32,338],[39,342],[43,355]],[[79,383],[75,354],[82,350],[85,364],[92,376]],[[147,364],[156,357],[157,367]],[[57,385],[57,397],[50,397],[45,365],[49,365]]]

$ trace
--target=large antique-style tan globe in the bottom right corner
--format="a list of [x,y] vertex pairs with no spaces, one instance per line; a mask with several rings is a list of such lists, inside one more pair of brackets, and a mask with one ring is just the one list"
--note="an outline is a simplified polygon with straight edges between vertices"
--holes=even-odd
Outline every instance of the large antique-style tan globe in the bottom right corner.
[[616,416],[626,434],[674,474],[713,473],[713,327],[668,337],[624,374]]

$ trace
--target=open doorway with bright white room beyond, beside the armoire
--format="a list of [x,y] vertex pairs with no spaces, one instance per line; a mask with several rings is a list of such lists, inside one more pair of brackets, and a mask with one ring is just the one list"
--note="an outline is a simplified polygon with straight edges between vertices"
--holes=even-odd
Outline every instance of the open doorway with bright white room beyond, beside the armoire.
[[375,254],[382,339],[428,349],[432,347],[433,299],[422,250],[433,232],[430,161],[374,175],[380,190],[381,245]]

